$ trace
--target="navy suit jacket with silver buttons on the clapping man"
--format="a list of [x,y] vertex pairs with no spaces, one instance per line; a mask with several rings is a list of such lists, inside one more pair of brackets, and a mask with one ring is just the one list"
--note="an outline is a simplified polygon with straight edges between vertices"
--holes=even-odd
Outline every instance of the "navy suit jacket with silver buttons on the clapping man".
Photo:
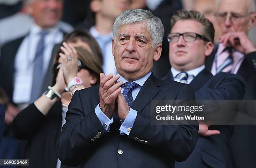
[[[195,95],[189,85],[174,81],[167,85],[152,74],[134,100],[138,114],[130,135],[120,135],[117,115],[107,132],[95,114],[99,86],[76,91],[56,145],[58,158],[69,166],[84,162],[84,168],[173,168],[174,160],[185,160],[192,152],[198,125],[151,125],[153,99],[178,103],[178,99],[195,99]],[[99,132],[100,138],[91,142]]]

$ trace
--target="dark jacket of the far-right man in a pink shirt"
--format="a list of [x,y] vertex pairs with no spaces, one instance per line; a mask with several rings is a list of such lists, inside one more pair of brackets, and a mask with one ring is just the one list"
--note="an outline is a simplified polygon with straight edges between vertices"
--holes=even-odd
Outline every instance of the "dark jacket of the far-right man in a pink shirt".
[[[218,47],[207,58],[205,68],[211,70],[212,63]],[[237,72],[246,81],[244,100],[256,99],[256,52],[245,55]],[[244,109],[243,111],[247,111]],[[250,114],[248,114],[250,115]],[[254,168],[256,165],[256,125],[235,125],[233,136],[230,140],[235,168]]]

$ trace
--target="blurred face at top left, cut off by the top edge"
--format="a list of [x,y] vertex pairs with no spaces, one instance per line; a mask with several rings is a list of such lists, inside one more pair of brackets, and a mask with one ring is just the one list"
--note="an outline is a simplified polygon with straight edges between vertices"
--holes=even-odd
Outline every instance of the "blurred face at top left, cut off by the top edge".
[[28,13],[40,27],[51,28],[60,20],[62,8],[62,0],[33,0],[28,4]]

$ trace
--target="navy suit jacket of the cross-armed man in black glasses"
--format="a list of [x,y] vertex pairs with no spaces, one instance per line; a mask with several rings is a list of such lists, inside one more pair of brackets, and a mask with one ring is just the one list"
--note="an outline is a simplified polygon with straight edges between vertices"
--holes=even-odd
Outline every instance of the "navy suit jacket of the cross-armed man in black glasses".
[[[172,73],[167,77],[174,80]],[[229,73],[213,76],[202,70],[190,83],[195,89],[196,100],[242,99],[245,85],[243,78]],[[233,133],[232,125],[211,125],[211,130],[219,130],[219,135],[199,136],[196,147],[184,162],[175,163],[175,168],[232,168],[229,140]]]

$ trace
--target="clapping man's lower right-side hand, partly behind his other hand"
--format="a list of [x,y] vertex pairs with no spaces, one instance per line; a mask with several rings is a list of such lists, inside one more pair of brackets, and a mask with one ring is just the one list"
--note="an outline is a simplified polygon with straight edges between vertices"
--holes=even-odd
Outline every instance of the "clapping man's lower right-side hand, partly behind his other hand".
[[118,97],[116,98],[116,104],[117,104],[117,108],[115,108],[116,113],[118,117],[124,121],[129,113],[130,108],[128,107],[122,93],[119,93]]

